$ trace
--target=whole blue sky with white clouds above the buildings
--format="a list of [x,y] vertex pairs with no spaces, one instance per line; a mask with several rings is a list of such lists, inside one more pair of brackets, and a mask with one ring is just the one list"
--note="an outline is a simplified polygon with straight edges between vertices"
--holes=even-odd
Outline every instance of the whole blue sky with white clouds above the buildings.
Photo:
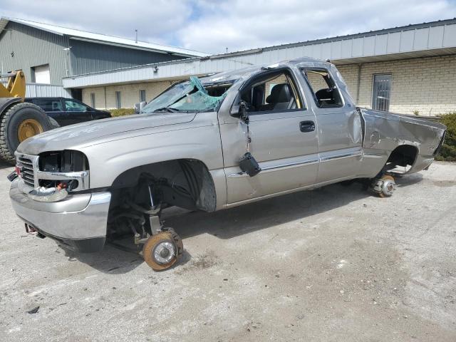
[[456,17],[456,0],[1,0],[0,15],[209,53]]

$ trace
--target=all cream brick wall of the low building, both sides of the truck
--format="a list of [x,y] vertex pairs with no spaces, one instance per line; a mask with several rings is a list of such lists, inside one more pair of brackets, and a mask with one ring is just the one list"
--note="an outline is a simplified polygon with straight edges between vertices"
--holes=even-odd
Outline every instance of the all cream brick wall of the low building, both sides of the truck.
[[[358,64],[338,66],[348,90],[356,100]],[[389,73],[392,76],[390,111],[420,115],[437,115],[456,111],[456,55],[364,63],[358,105],[371,108],[373,76]],[[120,91],[122,106],[133,108],[140,100],[140,89],[146,91],[147,101],[170,86],[171,81],[133,83],[83,89],[83,102],[90,105],[90,93],[95,93],[97,108],[115,108],[115,92]],[[106,103],[105,103],[106,90]]]

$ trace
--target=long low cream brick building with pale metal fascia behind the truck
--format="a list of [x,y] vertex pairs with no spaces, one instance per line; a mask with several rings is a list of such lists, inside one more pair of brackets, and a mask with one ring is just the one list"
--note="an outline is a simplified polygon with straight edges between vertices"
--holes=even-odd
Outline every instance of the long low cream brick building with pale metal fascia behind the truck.
[[72,76],[63,85],[82,88],[83,101],[96,108],[131,108],[141,96],[151,100],[192,75],[302,56],[336,64],[359,106],[420,115],[456,111],[456,19]]

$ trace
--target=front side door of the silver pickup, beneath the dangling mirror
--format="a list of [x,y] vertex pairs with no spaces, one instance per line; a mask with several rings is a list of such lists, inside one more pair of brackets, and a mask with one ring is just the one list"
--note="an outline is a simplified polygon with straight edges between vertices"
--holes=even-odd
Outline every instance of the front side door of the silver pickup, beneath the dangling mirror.
[[239,159],[247,150],[247,125],[237,118],[220,124],[228,204],[316,181],[316,119],[306,107],[299,86],[296,75],[289,68],[281,68],[260,73],[240,88],[234,102],[244,100],[248,105],[249,149],[262,170],[249,177],[239,169]]

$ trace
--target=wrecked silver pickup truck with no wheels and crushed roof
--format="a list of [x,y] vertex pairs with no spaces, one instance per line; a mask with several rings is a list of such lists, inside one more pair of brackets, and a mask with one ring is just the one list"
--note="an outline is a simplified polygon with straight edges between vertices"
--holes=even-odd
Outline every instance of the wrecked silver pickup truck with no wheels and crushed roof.
[[363,179],[392,195],[426,170],[445,126],[356,108],[333,64],[311,58],[175,83],[138,115],[58,128],[16,151],[10,197],[28,232],[81,252],[133,233],[153,269],[182,254],[160,212],[214,212]]

